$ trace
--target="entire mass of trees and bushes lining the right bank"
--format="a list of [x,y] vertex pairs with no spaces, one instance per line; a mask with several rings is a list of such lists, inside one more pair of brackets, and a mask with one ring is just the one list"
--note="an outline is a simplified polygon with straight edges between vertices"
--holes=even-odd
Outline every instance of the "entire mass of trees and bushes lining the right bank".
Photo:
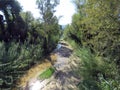
[[[65,31],[66,40],[74,40],[81,64],[80,90],[120,89],[120,1],[73,0],[77,13]],[[72,43],[72,42],[71,42]]]

